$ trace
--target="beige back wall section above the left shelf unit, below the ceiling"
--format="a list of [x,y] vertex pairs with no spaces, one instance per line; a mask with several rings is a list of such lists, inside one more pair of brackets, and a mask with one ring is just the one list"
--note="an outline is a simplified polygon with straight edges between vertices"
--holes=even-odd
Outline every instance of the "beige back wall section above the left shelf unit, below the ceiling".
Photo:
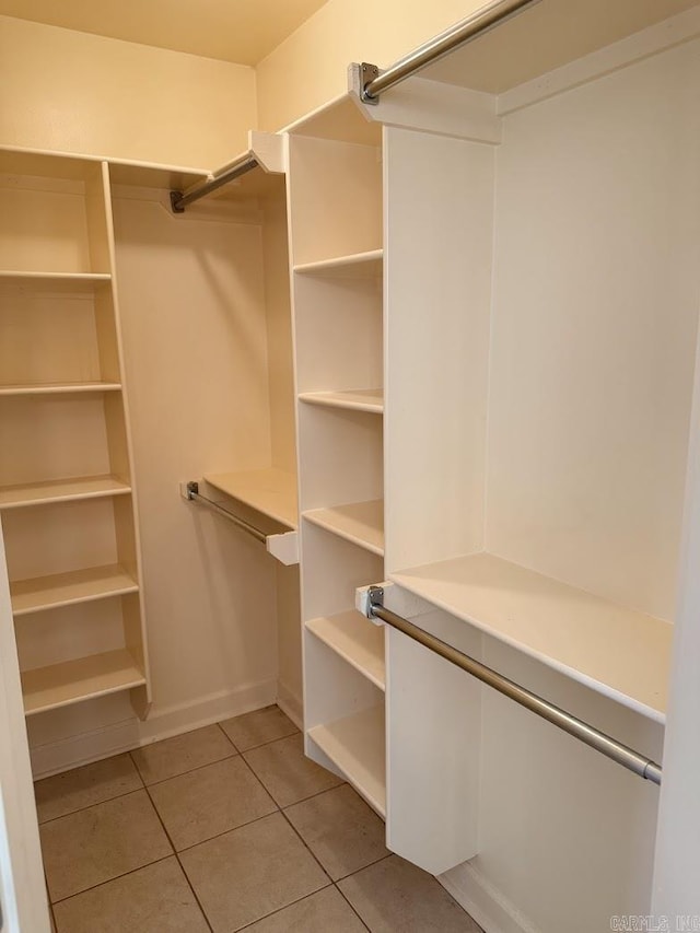
[[252,68],[0,16],[0,142],[213,168],[256,125]]

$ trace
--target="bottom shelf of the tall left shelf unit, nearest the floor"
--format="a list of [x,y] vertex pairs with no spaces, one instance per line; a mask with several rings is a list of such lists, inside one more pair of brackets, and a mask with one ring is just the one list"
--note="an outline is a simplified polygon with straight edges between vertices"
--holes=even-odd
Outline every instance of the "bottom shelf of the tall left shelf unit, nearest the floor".
[[143,674],[125,649],[93,654],[25,670],[22,674],[24,712],[33,715],[144,684]]

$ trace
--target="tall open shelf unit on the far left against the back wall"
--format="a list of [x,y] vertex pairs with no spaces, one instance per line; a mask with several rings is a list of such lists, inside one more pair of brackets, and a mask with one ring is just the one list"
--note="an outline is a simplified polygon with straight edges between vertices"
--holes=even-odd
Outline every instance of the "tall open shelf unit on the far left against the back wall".
[[0,153],[0,514],[27,715],[150,703],[109,171]]

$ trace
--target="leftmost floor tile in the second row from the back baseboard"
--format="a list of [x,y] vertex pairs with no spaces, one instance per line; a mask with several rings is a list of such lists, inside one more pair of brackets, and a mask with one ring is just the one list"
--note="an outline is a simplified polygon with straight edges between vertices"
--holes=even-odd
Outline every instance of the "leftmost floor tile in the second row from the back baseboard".
[[145,791],[44,823],[39,832],[54,901],[173,852]]

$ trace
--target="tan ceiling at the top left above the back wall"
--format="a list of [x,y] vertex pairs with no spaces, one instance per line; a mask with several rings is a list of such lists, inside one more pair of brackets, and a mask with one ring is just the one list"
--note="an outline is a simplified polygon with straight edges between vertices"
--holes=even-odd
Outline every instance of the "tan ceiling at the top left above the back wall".
[[0,0],[0,14],[257,65],[326,0]]

